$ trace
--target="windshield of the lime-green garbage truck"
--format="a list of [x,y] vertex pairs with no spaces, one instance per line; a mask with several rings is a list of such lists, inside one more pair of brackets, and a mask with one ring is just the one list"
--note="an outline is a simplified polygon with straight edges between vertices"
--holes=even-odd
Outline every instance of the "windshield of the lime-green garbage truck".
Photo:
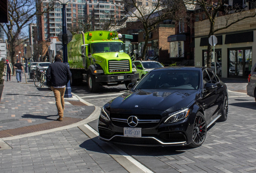
[[92,53],[103,52],[124,52],[124,45],[122,42],[98,42],[91,44]]

